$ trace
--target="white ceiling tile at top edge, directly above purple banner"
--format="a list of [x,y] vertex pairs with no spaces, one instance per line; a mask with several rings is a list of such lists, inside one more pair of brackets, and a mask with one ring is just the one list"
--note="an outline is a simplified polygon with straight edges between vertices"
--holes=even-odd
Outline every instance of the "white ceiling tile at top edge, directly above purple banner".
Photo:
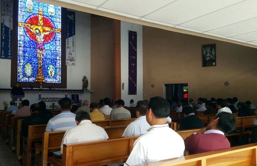
[[172,1],[174,0],[109,0],[101,7],[143,17]]

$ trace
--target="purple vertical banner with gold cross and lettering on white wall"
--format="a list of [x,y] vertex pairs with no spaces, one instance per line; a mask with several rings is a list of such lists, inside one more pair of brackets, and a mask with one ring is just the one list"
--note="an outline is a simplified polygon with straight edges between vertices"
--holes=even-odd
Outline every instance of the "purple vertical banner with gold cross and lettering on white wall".
[[128,31],[128,94],[136,95],[137,33]]

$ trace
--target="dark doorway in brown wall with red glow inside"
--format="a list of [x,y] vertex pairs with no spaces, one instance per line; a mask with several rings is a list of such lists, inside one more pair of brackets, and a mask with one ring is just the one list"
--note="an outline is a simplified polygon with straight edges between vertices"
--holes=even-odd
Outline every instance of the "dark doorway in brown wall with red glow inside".
[[166,89],[167,100],[179,100],[185,99],[188,102],[188,84],[176,83],[176,84],[164,84]]

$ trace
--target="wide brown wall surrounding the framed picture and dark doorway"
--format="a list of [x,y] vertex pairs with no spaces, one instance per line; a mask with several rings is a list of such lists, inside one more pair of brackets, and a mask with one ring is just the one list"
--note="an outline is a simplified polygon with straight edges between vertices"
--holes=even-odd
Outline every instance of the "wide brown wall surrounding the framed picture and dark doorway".
[[[202,45],[212,43],[217,66],[202,67]],[[164,84],[188,83],[195,101],[237,96],[257,105],[256,56],[255,48],[143,26],[143,98],[163,96]]]

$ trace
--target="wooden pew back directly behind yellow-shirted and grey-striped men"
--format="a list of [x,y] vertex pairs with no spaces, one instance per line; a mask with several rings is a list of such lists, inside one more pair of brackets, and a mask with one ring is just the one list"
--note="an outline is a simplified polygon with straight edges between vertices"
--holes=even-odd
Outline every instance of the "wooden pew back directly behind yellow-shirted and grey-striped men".
[[128,125],[133,122],[136,118],[132,119],[112,119],[112,120],[103,120],[103,121],[92,121],[93,124],[96,124],[101,127],[105,126],[120,126]]

